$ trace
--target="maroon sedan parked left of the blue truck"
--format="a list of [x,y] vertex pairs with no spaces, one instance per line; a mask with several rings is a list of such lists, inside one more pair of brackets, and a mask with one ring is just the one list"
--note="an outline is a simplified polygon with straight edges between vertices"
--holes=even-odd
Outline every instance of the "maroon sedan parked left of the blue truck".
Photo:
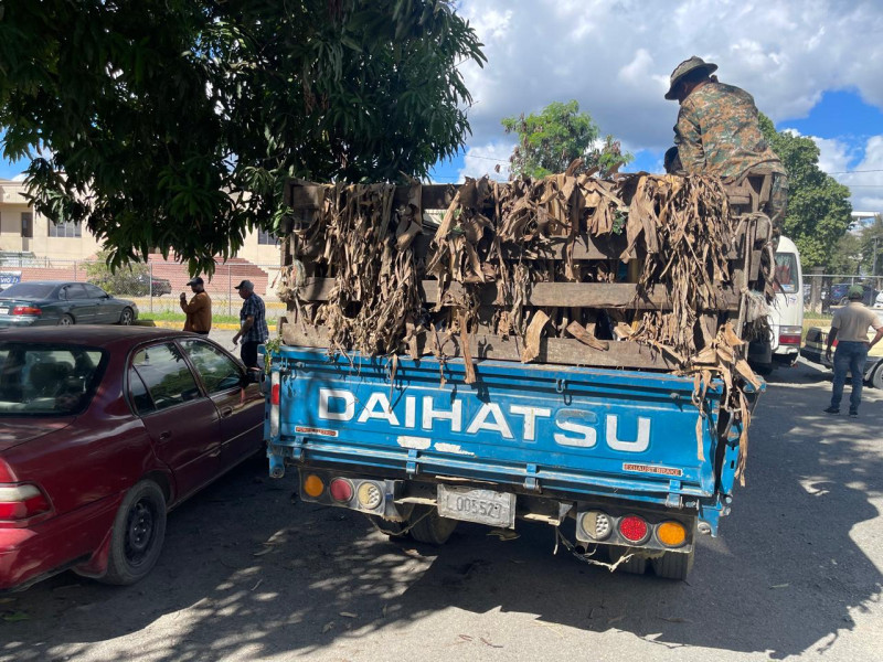
[[167,511],[263,447],[255,378],[180,331],[0,331],[0,591],[147,575]]

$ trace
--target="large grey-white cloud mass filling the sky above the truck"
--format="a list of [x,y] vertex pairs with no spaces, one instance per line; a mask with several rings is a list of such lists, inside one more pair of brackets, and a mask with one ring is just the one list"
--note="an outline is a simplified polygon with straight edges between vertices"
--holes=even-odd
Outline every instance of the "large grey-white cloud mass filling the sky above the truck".
[[690,55],[716,62],[721,81],[747,89],[774,120],[805,116],[829,89],[857,89],[883,108],[883,3],[672,4],[464,0],[459,12],[488,56],[485,68],[464,65],[476,100],[469,145],[500,140],[502,117],[573,98],[604,134],[661,150],[671,143],[678,113],[662,95],[671,71]]

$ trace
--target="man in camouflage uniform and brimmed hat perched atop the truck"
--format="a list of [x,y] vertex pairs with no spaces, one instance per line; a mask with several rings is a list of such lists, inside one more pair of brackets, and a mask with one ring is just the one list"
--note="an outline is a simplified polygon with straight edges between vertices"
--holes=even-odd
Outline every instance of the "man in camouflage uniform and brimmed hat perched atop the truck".
[[753,172],[770,172],[765,211],[778,227],[788,203],[785,168],[760,131],[752,95],[720,83],[711,75],[716,68],[716,64],[694,55],[671,74],[666,98],[678,99],[681,105],[674,126],[681,167],[690,174],[720,177],[724,183],[737,182]]

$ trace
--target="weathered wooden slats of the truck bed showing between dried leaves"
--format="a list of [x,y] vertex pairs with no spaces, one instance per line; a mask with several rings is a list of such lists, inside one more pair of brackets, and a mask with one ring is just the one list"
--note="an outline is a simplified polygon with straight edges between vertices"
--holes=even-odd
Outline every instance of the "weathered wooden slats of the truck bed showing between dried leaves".
[[[722,318],[733,322],[736,330],[744,320],[744,290],[758,279],[763,252],[769,241],[772,226],[769,221],[759,215],[765,200],[768,197],[769,175],[745,178],[734,186],[725,186],[731,207],[735,210],[738,223],[738,237],[734,242],[727,258],[731,263],[733,284],[719,286],[716,303],[708,310],[698,312],[709,318],[708,327],[716,331],[716,323]],[[308,226],[313,214],[318,213],[327,186],[304,182],[290,182],[286,189],[286,202],[294,210],[281,228],[286,237],[283,246],[283,266],[299,259],[306,270],[306,278],[298,288],[298,299],[306,302],[329,300],[334,287],[334,278],[317,276],[310,258],[319,257],[308,252],[299,252],[292,238],[292,229]],[[412,186],[395,189],[393,206],[407,204],[413,200]],[[422,211],[447,210],[457,194],[457,188],[449,184],[429,184],[421,189]],[[426,227],[426,232],[414,239],[414,249],[418,255],[428,253],[435,228]],[[567,237],[552,237],[551,250],[543,254],[543,259],[566,259],[565,241]],[[572,259],[581,260],[619,260],[626,247],[624,235],[591,236],[587,233],[577,235],[573,243]],[[519,246],[504,244],[508,256],[518,257]],[[640,255],[639,255],[640,258]],[[446,301],[457,300],[464,286],[454,282],[446,290]],[[422,280],[419,284],[422,299],[426,303],[437,305],[438,281]],[[472,285],[470,291],[478,295],[480,306],[491,309],[504,305],[502,292],[497,284]],[[448,296],[453,295],[453,296]],[[534,282],[528,293],[526,306],[558,309],[605,309],[623,311],[671,310],[673,302],[664,287],[658,286],[642,291],[635,282]],[[444,306],[444,302],[443,302]],[[308,348],[329,348],[330,340],[322,328],[294,321],[296,311],[289,303],[292,321],[280,320],[280,333],[286,344]],[[523,343],[515,337],[501,337],[487,329],[479,328],[469,337],[468,352],[476,360],[521,360]],[[738,332],[738,331],[737,331]],[[440,348],[440,334],[434,331],[422,332],[412,339],[412,344],[401,346],[402,353],[411,355],[428,355],[439,349],[447,356],[461,356],[462,340],[458,337],[446,338]],[[557,363],[587,365],[597,367],[624,367],[643,370],[673,370],[683,362],[683,357],[673,356],[670,352],[649,346],[631,340],[606,342],[607,349],[595,349],[573,338],[542,338],[540,354],[534,361],[540,363]]]

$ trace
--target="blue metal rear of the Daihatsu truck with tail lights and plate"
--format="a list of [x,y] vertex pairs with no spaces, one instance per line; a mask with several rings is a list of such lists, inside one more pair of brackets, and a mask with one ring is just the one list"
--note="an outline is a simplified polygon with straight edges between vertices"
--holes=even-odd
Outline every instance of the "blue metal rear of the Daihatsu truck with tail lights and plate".
[[747,416],[723,381],[490,359],[472,375],[461,357],[329,352],[296,327],[268,350],[265,437],[304,501],[430,544],[458,522],[541,522],[589,563],[672,579],[730,512]]

